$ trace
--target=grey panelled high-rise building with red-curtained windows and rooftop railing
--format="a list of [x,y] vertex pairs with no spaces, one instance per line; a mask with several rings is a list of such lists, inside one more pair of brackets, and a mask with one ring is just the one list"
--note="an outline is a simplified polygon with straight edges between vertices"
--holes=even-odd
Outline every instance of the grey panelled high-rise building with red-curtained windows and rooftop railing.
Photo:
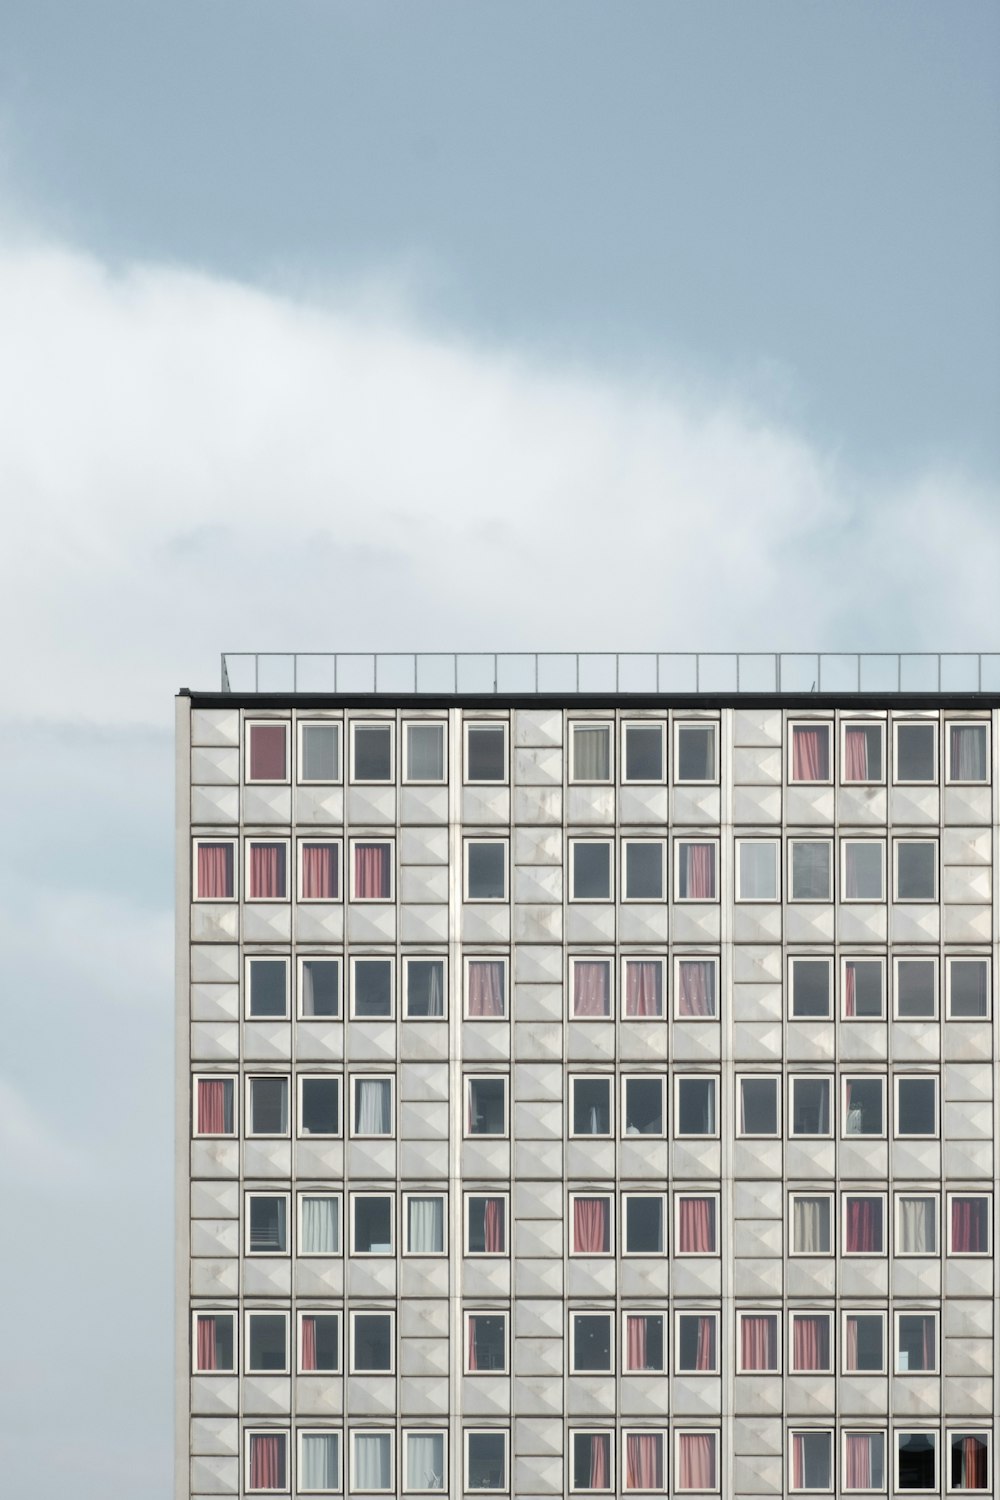
[[424,660],[178,698],[178,1497],[991,1492],[1000,658]]

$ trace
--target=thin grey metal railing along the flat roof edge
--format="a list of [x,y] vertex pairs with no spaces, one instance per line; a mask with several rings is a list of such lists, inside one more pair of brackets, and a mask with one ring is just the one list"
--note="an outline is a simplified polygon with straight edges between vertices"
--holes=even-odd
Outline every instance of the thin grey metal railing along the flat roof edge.
[[1000,651],[225,651],[223,693],[1000,693]]

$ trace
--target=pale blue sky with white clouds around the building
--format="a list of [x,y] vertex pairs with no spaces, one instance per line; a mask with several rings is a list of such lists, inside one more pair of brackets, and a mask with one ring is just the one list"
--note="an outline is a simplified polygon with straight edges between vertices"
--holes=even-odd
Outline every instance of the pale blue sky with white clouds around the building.
[[171,1492],[220,651],[1000,648],[999,76],[991,0],[0,0],[10,1492]]

